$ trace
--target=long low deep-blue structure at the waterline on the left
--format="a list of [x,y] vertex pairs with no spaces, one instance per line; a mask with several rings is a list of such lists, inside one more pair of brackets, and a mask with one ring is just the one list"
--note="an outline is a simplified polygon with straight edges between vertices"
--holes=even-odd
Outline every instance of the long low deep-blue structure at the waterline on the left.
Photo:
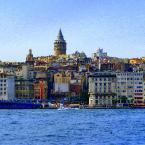
[[29,101],[0,101],[0,109],[40,109],[40,103]]

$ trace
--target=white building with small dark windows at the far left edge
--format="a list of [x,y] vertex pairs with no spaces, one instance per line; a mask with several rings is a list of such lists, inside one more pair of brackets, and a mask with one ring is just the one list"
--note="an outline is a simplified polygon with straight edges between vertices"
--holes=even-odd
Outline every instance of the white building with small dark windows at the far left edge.
[[14,76],[0,73],[0,100],[13,100],[15,98]]

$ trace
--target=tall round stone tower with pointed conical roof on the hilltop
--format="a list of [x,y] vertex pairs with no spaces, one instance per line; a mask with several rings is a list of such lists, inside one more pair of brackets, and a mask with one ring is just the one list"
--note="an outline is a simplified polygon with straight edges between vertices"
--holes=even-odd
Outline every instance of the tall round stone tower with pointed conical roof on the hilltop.
[[66,54],[66,42],[63,38],[61,29],[59,30],[57,39],[54,42],[54,53],[55,53],[55,56]]

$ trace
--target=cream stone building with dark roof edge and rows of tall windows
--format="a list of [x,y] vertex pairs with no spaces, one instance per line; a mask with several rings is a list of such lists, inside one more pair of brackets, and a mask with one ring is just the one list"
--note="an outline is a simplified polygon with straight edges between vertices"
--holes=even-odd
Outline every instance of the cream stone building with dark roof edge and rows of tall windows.
[[89,76],[89,106],[113,106],[116,96],[116,74],[98,72]]

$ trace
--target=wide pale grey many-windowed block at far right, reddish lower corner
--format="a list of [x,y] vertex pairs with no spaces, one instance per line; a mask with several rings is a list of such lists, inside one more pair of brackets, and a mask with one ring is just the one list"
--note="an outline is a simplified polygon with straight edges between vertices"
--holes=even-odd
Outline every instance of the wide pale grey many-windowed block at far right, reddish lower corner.
[[117,73],[117,97],[129,103],[143,105],[143,72]]

